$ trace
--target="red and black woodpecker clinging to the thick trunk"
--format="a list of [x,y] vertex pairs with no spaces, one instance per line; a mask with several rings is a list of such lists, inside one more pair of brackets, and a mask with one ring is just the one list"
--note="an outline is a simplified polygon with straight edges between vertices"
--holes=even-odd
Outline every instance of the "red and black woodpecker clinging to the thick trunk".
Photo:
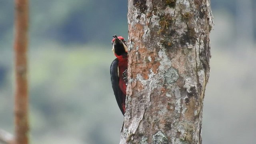
[[122,36],[113,36],[112,51],[116,56],[110,66],[110,76],[116,102],[124,115],[127,85],[127,45]]

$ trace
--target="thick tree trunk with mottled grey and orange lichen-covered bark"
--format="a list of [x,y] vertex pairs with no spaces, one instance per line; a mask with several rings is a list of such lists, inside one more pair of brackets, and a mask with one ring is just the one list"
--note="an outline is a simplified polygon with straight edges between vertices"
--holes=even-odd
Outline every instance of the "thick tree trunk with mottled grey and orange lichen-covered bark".
[[128,0],[128,86],[120,144],[201,144],[210,0]]

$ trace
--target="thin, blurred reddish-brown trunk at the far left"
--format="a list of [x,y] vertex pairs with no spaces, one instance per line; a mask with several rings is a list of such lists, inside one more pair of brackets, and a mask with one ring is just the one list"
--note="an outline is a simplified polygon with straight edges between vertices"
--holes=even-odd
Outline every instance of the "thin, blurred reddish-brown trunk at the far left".
[[28,144],[28,0],[15,0],[15,143]]

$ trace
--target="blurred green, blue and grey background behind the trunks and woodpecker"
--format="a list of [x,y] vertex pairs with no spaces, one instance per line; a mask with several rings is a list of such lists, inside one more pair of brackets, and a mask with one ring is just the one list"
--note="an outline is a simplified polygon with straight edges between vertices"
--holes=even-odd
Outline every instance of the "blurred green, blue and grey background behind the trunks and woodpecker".
[[[255,0],[212,0],[204,144],[254,144]],[[14,2],[0,0],[0,128],[13,132]],[[127,1],[30,0],[31,144],[118,144],[112,35],[127,39]]]

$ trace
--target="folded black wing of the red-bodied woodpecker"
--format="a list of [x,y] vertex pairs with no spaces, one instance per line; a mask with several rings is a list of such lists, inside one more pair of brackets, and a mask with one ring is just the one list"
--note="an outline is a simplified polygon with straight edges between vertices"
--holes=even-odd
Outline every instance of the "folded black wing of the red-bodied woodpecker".
[[116,96],[116,102],[122,112],[124,114],[124,110],[122,109],[122,91],[119,88],[119,76],[118,76],[118,59],[114,59],[110,66],[110,76],[112,88],[114,91],[114,95]]

